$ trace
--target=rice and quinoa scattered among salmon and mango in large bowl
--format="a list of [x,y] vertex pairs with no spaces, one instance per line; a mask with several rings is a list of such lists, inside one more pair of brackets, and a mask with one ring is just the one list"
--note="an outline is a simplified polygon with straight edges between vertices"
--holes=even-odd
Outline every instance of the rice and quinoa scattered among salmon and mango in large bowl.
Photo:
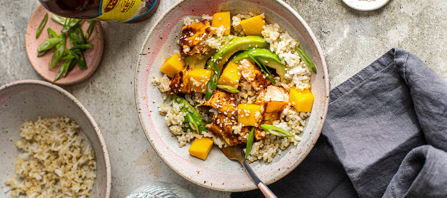
[[[233,39],[232,35],[238,37],[245,36],[244,30],[240,26],[240,21],[253,16],[255,15],[252,12],[249,12],[248,15],[237,14],[236,16],[232,16],[231,35],[228,36],[230,42]],[[264,13],[260,14],[260,16],[265,18]],[[203,15],[202,19],[211,20],[212,16]],[[183,20],[185,25],[194,24],[198,21],[198,19],[193,20],[190,19],[190,17],[186,17]],[[223,26],[221,26],[221,28],[223,28]],[[270,51],[277,54],[281,62],[287,66],[287,73],[284,75],[286,80],[280,82],[280,78],[275,77],[276,84],[274,84],[274,86],[283,87],[287,91],[290,91],[291,87],[294,86],[301,91],[304,89],[309,89],[312,70],[305,64],[305,62],[301,60],[295,49],[295,45],[299,45],[299,42],[291,37],[287,31],[281,29],[281,27],[276,23],[266,24],[263,26],[263,29],[262,36],[264,37],[264,41],[270,44]],[[224,30],[224,28],[215,28],[217,38],[211,37],[210,39],[204,41],[204,43],[213,49],[220,49],[223,45],[228,44],[228,41],[223,38]],[[179,43],[179,41],[177,41],[177,43]],[[169,84],[171,83],[171,80],[169,80],[169,77],[166,74],[162,76],[153,74],[153,77],[154,79],[152,80],[152,84],[154,86],[158,86],[162,92],[163,99],[166,100],[165,103],[158,105],[158,110],[160,111],[161,115],[164,115],[164,121],[169,126],[171,132],[177,136],[179,143],[178,145],[180,147],[184,146],[186,142],[194,140],[194,137],[200,139],[202,136],[211,137],[214,140],[214,143],[219,147],[228,146],[225,140],[214,136],[211,132],[202,132],[201,134],[197,134],[195,132],[191,132],[190,130],[183,130],[182,128],[185,127],[185,116],[180,111],[181,107],[179,107],[177,103],[173,103],[170,95],[166,94],[166,92],[170,89]],[[245,78],[240,78],[238,83],[239,84],[236,85],[236,88],[239,88],[240,92],[236,95],[237,103],[255,103],[258,95],[256,94],[257,91],[253,89],[252,85],[245,80]],[[203,116],[204,120],[208,123],[212,123],[211,117],[219,111],[215,108],[204,108],[203,104],[206,102],[204,96],[205,94],[193,92],[193,95],[186,94],[185,99],[196,108],[198,113]],[[280,155],[290,144],[297,145],[300,140],[298,135],[306,126],[305,119],[308,116],[310,116],[310,112],[296,111],[295,108],[289,103],[289,105],[283,110],[281,119],[274,121],[273,125],[296,136],[275,136],[264,131],[262,135],[265,135],[265,138],[257,140],[253,143],[248,157],[249,161],[263,159],[264,161],[270,162],[276,154]],[[242,127],[244,127],[243,124],[233,126],[232,129],[234,130],[234,134],[240,134]],[[248,134],[241,136],[240,138],[246,139],[247,136]]]

